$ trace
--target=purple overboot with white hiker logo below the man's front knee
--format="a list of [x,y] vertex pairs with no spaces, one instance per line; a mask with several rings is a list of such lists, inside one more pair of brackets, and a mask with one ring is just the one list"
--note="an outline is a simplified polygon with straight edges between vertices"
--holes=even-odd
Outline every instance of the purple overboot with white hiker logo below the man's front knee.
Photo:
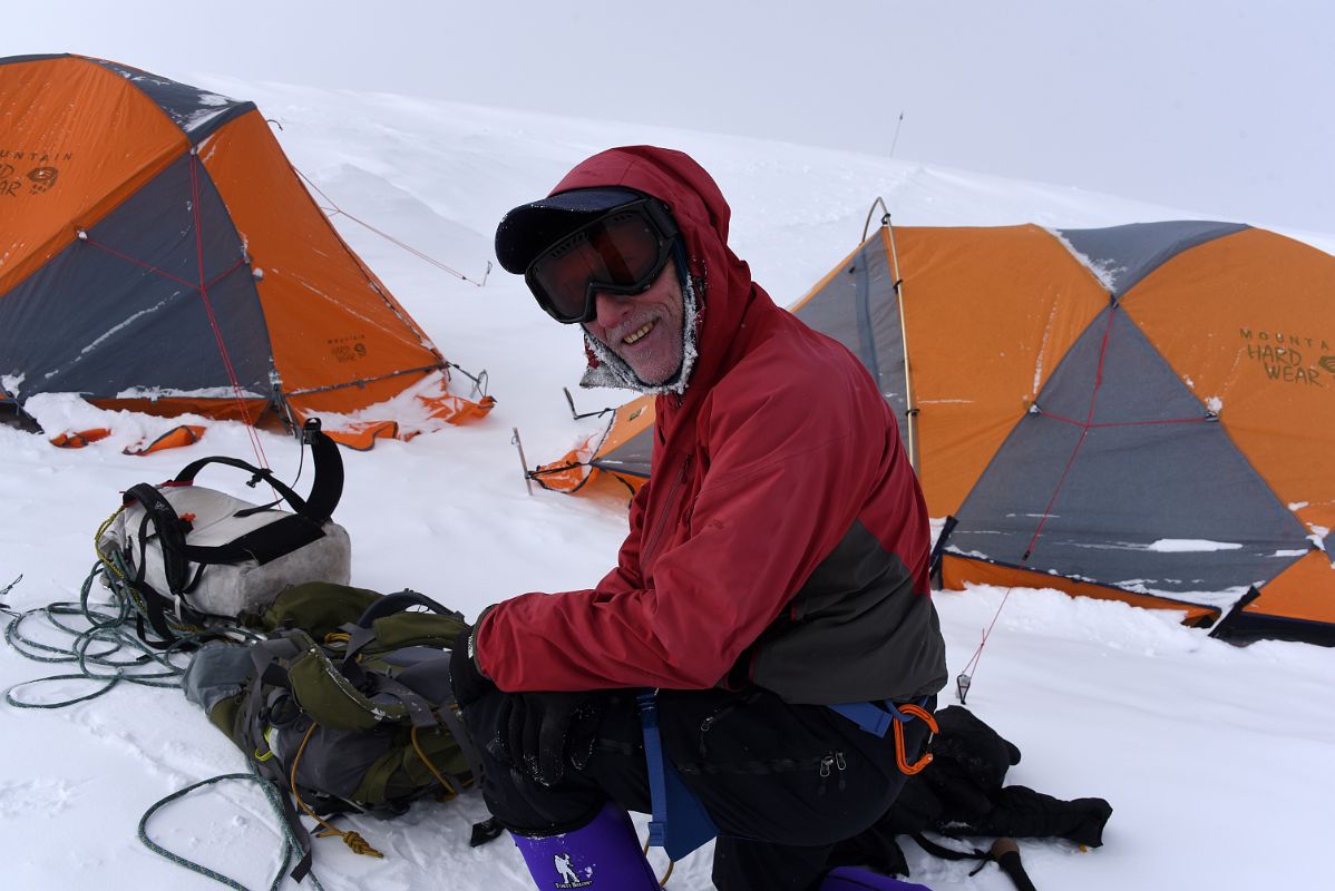
[[611,802],[573,832],[543,838],[514,835],[514,844],[539,891],[658,891],[658,879],[639,847],[630,815]]

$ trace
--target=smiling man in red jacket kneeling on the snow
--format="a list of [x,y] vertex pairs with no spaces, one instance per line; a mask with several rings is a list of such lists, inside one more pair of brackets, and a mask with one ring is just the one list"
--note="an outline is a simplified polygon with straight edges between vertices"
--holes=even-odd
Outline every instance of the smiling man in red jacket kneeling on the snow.
[[717,887],[904,887],[828,859],[894,800],[894,736],[913,752],[945,683],[926,510],[870,375],[752,281],[729,213],[690,157],[630,147],[497,231],[501,264],[583,327],[582,383],[657,395],[617,567],[490,607],[451,666],[539,887],[657,887],[625,815],[650,807],[645,690],[717,827]]

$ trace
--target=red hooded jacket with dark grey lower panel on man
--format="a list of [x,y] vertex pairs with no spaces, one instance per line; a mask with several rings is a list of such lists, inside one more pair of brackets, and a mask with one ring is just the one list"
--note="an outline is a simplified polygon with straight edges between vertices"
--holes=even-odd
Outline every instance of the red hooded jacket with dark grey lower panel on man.
[[672,209],[698,359],[685,393],[657,400],[617,568],[487,611],[479,668],[511,692],[754,683],[829,704],[940,690],[926,508],[870,375],[752,281],[728,203],[689,156],[610,149],[553,193],[598,185]]

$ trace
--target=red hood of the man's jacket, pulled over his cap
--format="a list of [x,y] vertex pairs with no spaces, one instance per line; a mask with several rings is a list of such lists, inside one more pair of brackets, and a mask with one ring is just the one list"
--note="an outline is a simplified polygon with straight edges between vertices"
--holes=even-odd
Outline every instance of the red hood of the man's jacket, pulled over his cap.
[[[578,188],[622,187],[657,197],[672,211],[682,233],[686,267],[698,301],[696,365],[685,399],[709,389],[728,367],[728,355],[742,319],[769,296],[752,281],[750,268],[728,247],[732,209],[713,177],[689,155],[653,145],[599,152],[577,165],[551,195]],[[591,363],[597,359],[590,356]]]

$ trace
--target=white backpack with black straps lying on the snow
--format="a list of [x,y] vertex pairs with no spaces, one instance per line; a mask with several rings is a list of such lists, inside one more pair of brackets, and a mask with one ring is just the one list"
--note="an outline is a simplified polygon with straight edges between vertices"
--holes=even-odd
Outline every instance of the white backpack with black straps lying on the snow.
[[[180,646],[199,628],[235,623],[262,608],[286,587],[311,580],[347,584],[351,547],[330,518],[343,494],[338,446],[307,421],[315,482],[299,496],[272,471],[240,459],[214,456],[188,464],[175,479],[125,491],[121,510],[99,531],[97,551],[116,567],[108,580],[139,607],[139,636],[158,648]],[[195,484],[210,464],[251,474],[278,495],[252,504]],[[286,502],[290,511],[278,510]],[[147,619],[159,640],[150,640]]]

